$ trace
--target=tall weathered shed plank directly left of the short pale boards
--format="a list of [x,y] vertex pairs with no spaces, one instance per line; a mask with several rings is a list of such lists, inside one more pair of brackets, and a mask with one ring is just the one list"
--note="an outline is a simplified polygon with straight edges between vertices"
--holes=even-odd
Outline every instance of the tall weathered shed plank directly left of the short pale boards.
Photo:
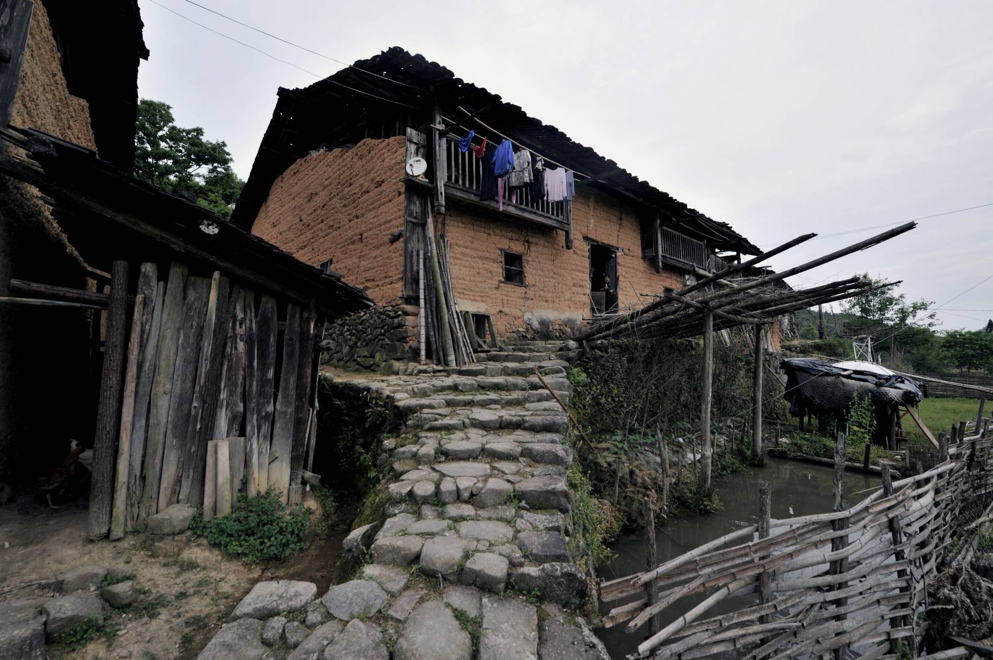
[[211,372],[211,362],[215,359],[213,356],[214,335],[222,332],[217,327],[220,279],[220,272],[215,271],[211,278],[211,289],[207,296],[207,315],[204,318],[204,330],[201,333],[200,360],[197,365],[197,385],[194,387],[193,392],[190,424],[187,427],[186,436],[181,442],[183,470],[182,474],[176,476],[179,483],[179,501],[192,505],[200,503],[201,499],[195,493],[203,491],[204,488],[199,480],[197,481],[197,485],[194,485],[194,474],[204,469],[198,460],[198,456],[201,453],[199,447],[201,442],[200,426],[204,418],[204,397],[209,389],[207,379]]

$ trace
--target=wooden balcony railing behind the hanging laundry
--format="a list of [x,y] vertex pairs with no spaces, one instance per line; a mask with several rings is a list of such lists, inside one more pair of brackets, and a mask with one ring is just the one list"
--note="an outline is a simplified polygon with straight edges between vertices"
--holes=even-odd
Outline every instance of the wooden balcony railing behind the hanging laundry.
[[[497,200],[480,201],[480,184],[483,181],[483,163],[472,150],[463,152],[459,149],[459,141],[452,136],[446,136],[445,141],[445,191],[455,195],[497,208]],[[525,220],[531,220],[542,225],[566,229],[569,226],[571,202],[568,200],[550,202],[546,199],[534,199],[530,186],[515,188],[511,191],[503,187],[503,212]]]

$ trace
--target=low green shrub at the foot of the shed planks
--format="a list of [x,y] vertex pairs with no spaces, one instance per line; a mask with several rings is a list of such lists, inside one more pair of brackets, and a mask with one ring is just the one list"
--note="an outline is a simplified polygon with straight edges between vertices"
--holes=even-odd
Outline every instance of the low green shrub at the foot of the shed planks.
[[287,508],[271,489],[252,497],[242,491],[230,513],[204,520],[203,511],[198,511],[190,528],[225,553],[255,563],[305,549],[310,511],[303,506]]

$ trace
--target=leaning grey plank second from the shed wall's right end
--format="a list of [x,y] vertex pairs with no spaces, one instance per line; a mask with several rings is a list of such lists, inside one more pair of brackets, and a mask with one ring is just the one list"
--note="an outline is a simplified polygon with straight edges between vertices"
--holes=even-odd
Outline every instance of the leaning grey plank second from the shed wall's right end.
[[286,332],[283,338],[283,368],[279,377],[279,394],[272,427],[270,452],[276,459],[269,463],[269,487],[288,501],[290,463],[293,452],[293,422],[297,400],[297,378],[300,373],[300,307],[286,305]]

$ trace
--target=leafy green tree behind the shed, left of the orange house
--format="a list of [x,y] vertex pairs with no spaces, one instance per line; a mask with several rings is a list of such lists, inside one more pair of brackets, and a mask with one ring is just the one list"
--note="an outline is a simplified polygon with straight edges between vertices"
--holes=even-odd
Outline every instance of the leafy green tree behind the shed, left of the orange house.
[[231,169],[227,144],[204,138],[204,129],[176,126],[172,106],[143,98],[138,103],[134,173],[164,190],[192,196],[225,220],[244,181]]

